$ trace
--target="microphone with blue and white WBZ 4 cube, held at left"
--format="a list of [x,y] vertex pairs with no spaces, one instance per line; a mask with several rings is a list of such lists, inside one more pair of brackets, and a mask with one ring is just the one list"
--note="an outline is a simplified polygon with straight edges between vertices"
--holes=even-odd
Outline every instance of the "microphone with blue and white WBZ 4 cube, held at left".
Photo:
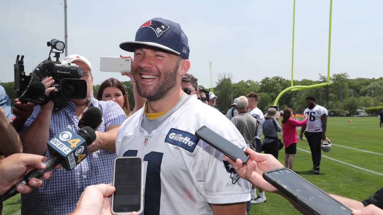
[[[41,178],[44,173],[50,171],[59,163],[61,163],[62,167],[67,171],[72,170],[88,156],[87,146],[92,144],[95,139],[96,133],[91,127],[83,127],[77,132],[65,128],[47,142],[51,156],[43,162],[46,168],[31,170],[23,177],[20,184],[29,185],[29,179]],[[17,193],[16,185],[14,185],[0,197],[0,202],[9,199]]]

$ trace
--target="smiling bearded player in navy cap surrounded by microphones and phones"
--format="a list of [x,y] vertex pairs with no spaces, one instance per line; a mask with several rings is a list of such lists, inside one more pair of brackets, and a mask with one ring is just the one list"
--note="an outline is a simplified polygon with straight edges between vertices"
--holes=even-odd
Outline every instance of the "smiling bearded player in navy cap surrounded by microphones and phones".
[[144,160],[144,214],[245,215],[249,182],[194,133],[206,125],[242,149],[246,143],[223,114],[182,90],[190,49],[179,24],[154,18],[137,30],[135,41],[120,47],[134,52],[137,92],[147,99],[116,141],[118,156]]

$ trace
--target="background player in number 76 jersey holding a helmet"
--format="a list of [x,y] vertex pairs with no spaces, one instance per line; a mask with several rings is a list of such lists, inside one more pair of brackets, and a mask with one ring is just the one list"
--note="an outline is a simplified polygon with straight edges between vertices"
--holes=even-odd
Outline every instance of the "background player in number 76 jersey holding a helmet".
[[327,109],[319,106],[315,103],[315,98],[309,96],[306,98],[307,108],[304,110],[305,114],[308,114],[308,121],[306,125],[302,126],[300,139],[303,140],[304,136],[309,143],[311,150],[311,157],[313,159],[314,174],[319,174],[319,165],[321,164],[321,141],[326,140],[326,128],[327,128]]

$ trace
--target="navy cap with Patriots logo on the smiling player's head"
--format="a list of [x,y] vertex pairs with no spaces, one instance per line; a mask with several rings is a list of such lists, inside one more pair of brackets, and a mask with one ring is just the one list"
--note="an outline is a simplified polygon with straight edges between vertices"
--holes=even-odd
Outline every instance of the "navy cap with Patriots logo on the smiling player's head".
[[147,21],[137,30],[135,41],[121,42],[119,47],[134,52],[139,44],[159,47],[189,59],[188,37],[178,23],[170,20],[154,18]]

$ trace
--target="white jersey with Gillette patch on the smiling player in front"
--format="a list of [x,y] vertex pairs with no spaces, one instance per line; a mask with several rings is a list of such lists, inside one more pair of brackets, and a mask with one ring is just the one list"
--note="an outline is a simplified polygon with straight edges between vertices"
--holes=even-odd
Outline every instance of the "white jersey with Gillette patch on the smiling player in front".
[[219,111],[194,96],[187,97],[151,134],[141,127],[144,108],[119,129],[118,156],[144,160],[146,214],[213,214],[210,204],[250,200],[250,183],[239,178],[221,152],[194,134],[206,125],[244,149],[242,135]]

